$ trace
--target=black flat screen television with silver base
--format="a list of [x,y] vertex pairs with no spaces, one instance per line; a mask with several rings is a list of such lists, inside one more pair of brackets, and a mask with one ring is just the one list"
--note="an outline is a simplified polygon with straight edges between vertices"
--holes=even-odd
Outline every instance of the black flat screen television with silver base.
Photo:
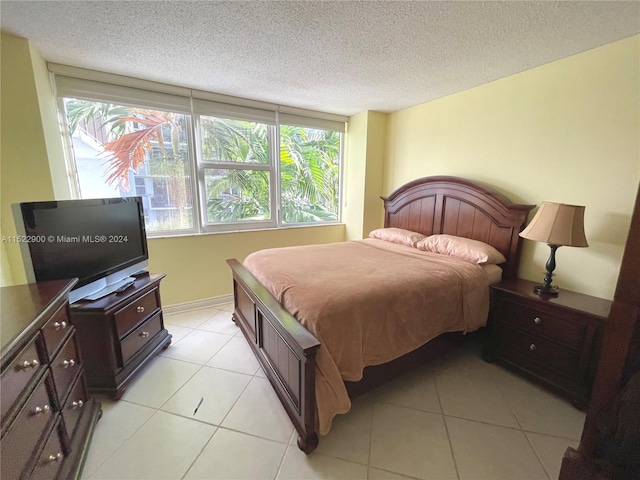
[[27,280],[76,277],[71,303],[132,283],[148,266],[141,197],[13,204]]

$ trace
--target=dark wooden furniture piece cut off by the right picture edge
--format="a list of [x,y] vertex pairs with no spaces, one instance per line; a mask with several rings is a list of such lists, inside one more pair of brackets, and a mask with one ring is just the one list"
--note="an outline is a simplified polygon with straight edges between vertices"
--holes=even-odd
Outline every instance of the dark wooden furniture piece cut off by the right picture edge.
[[640,185],[580,445],[559,478],[640,478]]

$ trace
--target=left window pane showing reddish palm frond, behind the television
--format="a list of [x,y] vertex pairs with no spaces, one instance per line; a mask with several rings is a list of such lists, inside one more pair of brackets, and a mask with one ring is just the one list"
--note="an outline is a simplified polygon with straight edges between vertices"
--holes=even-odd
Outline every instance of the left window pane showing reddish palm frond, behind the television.
[[194,229],[187,116],[65,98],[80,198],[143,197],[147,231]]

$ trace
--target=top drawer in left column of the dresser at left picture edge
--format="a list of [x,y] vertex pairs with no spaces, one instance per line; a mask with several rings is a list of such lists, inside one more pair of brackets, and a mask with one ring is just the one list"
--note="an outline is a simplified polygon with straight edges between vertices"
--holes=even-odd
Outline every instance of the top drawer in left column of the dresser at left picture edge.
[[18,356],[2,371],[0,376],[0,410],[4,423],[11,407],[27,385],[44,368],[38,356],[38,335],[31,340]]

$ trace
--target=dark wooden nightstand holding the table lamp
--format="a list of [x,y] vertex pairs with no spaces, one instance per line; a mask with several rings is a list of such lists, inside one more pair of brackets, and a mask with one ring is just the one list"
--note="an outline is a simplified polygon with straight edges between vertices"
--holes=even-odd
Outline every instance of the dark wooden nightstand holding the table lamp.
[[535,285],[515,279],[491,286],[491,334],[483,357],[516,368],[583,408],[611,302],[568,290],[539,296]]

